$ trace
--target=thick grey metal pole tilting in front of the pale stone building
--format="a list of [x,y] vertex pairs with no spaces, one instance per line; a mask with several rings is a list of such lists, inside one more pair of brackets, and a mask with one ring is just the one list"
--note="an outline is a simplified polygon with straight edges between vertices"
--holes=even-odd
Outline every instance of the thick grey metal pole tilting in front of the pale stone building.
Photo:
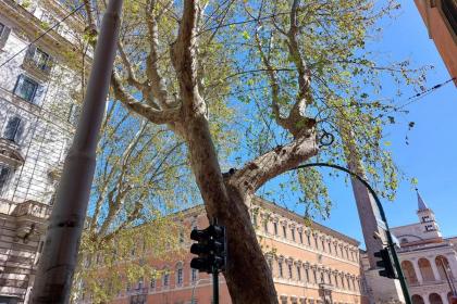
[[32,303],[69,303],[70,300],[94,179],[96,148],[116,52],[122,1],[110,0],[103,15],[83,112],[65,159],[49,219]]

